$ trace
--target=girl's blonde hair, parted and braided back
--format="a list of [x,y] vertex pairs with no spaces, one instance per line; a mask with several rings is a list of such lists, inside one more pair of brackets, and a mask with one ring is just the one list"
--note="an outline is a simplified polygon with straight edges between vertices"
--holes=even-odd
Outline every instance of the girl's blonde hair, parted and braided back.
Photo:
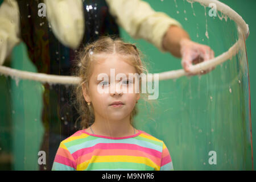
[[[95,64],[96,55],[99,54],[117,54],[121,56],[129,57],[129,64],[135,68],[136,73],[147,73],[147,69],[142,63],[141,57],[144,55],[135,46],[135,44],[125,43],[120,38],[111,38],[110,36],[101,36],[93,43],[88,44],[79,51],[75,63],[75,69],[73,75],[80,77],[80,84],[73,88],[73,94],[75,96],[75,107],[80,115],[77,120],[81,120],[81,129],[86,129],[94,122],[93,106],[87,105],[82,94],[82,86],[85,84],[86,90],[88,90],[89,80],[92,76],[93,65]],[[140,79],[141,85],[141,79]],[[141,87],[141,86],[140,86]],[[141,89],[141,88],[140,88]],[[144,98],[144,97],[142,97]],[[134,115],[137,114],[137,106],[134,107],[130,115],[130,123],[133,124]],[[77,122],[76,120],[76,122]]]

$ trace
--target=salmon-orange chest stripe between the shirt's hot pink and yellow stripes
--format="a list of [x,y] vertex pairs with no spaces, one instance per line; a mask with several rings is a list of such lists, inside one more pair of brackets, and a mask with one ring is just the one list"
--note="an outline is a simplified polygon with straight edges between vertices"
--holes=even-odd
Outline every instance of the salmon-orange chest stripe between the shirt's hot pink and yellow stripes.
[[126,150],[126,149],[113,149],[113,150],[101,150],[96,149],[92,153],[85,154],[77,158],[77,165],[85,162],[86,160],[92,159],[92,156],[110,156],[110,155],[127,155],[127,156],[138,156],[138,157],[145,157],[152,162],[154,162],[156,165],[160,166],[161,158],[156,158],[155,156],[152,156],[150,154],[145,154],[143,151],[139,150]]

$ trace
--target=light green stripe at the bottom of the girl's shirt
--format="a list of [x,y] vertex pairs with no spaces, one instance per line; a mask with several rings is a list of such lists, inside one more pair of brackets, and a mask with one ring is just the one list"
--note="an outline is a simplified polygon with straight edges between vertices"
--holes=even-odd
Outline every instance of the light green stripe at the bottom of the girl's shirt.
[[85,171],[99,170],[99,169],[134,169],[139,171],[154,171],[155,168],[147,166],[141,163],[129,163],[129,162],[102,162],[102,163],[90,163]]

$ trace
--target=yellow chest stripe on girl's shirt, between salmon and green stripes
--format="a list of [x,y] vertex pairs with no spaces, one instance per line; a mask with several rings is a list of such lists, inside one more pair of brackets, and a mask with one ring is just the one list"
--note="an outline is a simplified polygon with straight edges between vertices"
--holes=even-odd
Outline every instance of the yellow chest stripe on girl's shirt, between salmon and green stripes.
[[104,163],[104,162],[130,162],[130,163],[141,163],[146,164],[157,171],[160,170],[160,166],[156,165],[152,160],[140,156],[128,156],[128,155],[105,155],[105,156],[92,156],[92,159],[86,160],[77,165],[77,171],[84,171],[90,163]]

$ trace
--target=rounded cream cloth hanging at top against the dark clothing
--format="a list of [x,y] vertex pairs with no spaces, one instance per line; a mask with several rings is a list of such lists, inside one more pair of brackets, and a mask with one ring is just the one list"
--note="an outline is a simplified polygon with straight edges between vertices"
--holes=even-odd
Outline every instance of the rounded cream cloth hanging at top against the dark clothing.
[[46,16],[53,33],[65,46],[76,49],[84,36],[81,0],[44,0]]

